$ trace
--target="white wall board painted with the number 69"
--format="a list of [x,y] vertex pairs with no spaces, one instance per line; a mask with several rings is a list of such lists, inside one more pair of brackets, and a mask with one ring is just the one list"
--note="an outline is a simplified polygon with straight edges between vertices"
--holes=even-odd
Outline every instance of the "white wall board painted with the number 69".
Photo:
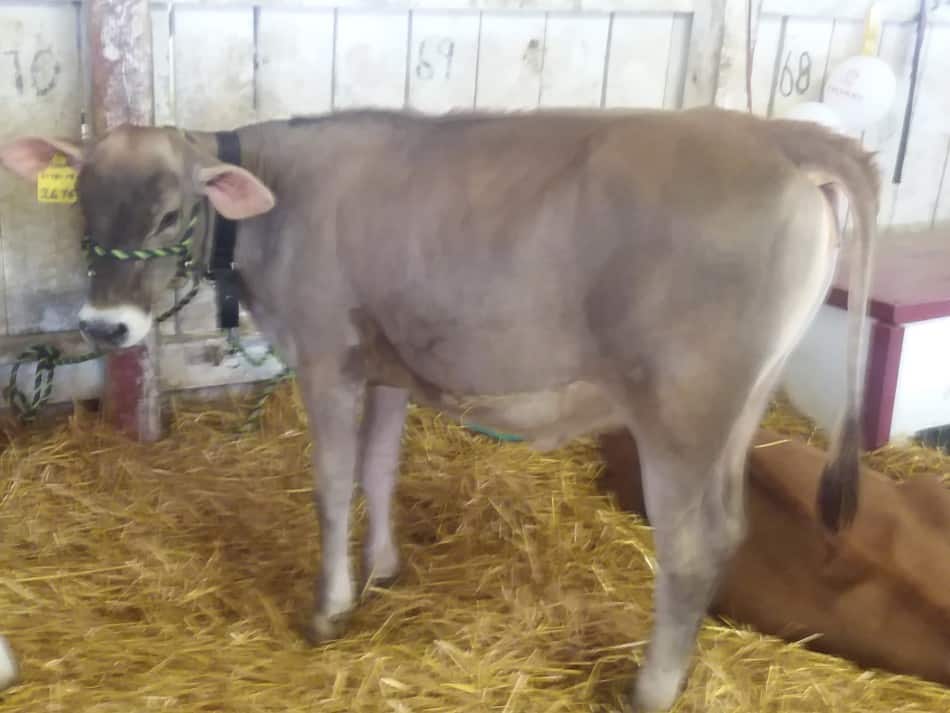
[[471,109],[481,19],[475,12],[414,12],[409,105],[441,114]]

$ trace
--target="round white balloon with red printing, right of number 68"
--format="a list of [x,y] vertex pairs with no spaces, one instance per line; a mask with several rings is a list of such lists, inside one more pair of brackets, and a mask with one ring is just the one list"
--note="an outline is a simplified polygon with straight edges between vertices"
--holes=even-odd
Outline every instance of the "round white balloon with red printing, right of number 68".
[[824,103],[852,129],[866,129],[883,119],[897,95],[897,77],[883,60],[868,55],[849,57],[825,83]]

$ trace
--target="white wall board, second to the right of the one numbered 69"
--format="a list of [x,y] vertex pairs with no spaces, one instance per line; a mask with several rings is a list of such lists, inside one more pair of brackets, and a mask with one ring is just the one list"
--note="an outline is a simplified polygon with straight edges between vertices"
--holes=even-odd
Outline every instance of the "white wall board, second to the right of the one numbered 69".
[[548,16],[540,106],[600,106],[609,28],[608,15]]

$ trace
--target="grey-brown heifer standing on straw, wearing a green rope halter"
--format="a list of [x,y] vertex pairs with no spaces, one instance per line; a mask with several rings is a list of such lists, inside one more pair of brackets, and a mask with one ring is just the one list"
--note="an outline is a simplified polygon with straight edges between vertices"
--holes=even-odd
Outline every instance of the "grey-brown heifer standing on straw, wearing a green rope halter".
[[629,428],[661,562],[633,700],[668,708],[742,536],[749,441],[828,291],[840,195],[858,259],[846,410],[821,502],[832,529],[853,516],[878,177],[850,138],[706,108],[359,111],[219,134],[125,126],[87,147],[24,138],[0,161],[34,179],[55,151],[79,168],[105,251],[80,313],[103,348],[144,336],[174,273],[109,250],[169,245],[197,210],[200,270],[206,223],[238,221],[241,299],[296,369],[318,443],[318,639],[339,634],[356,600],[357,480],[364,576],[399,570],[389,512],[410,395],[541,448]]

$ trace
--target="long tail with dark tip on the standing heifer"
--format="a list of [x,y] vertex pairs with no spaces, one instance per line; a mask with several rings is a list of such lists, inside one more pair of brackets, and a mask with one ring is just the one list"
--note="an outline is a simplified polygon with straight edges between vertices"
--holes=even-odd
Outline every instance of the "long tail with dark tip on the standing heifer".
[[872,248],[880,205],[880,175],[874,154],[850,137],[815,124],[770,120],[768,130],[785,155],[823,190],[840,190],[854,221],[855,250],[848,280],[848,350],[845,403],[828,463],[818,486],[817,509],[832,533],[848,527],[858,505],[861,413],[867,363],[868,300]]

